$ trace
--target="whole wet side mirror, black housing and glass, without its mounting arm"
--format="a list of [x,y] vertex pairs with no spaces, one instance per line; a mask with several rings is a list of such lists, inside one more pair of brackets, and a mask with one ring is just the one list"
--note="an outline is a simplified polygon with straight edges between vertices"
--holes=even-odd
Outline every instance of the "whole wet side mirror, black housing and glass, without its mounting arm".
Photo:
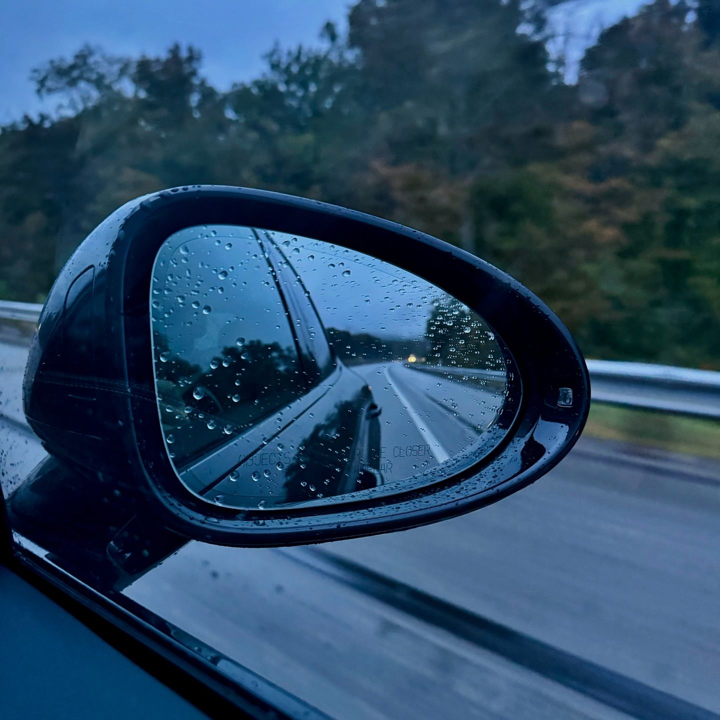
[[233,546],[481,508],[562,459],[589,396],[570,333],[498,269],[217,186],[137,199],[84,240],[24,384],[30,426],[106,505]]

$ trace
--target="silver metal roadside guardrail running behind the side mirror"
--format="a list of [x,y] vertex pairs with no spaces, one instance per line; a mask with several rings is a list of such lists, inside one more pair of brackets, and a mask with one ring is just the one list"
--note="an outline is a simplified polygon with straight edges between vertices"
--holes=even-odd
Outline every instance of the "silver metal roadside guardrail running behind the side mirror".
[[[37,323],[42,305],[0,300],[0,318]],[[588,360],[595,402],[720,419],[720,372]]]

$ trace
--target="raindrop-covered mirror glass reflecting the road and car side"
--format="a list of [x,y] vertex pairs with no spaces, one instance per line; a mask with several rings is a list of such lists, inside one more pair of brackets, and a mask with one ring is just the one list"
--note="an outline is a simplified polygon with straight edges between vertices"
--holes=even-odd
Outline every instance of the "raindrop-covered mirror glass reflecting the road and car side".
[[518,406],[480,315],[340,243],[186,228],[158,252],[150,313],[168,454],[189,490],[229,508],[442,480],[486,456]]

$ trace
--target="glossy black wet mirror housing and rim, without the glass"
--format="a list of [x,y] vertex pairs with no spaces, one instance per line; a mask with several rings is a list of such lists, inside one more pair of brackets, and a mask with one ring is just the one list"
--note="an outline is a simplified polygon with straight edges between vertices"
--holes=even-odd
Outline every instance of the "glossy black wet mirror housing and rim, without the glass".
[[[238,510],[201,500],[177,477],[166,452],[155,402],[151,352],[151,271],[162,243],[196,225],[242,225],[304,235],[367,253],[436,284],[482,315],[502,338],[520,374],[522,397],[508,435],[481,462],[441,482],[397,495],[338,508]],[[309,199],[227,186],[186,186],[132,201],[91,233],[63,269],[41,317],[51,327],[64,312],[52,299],[94,268],[91,300],[102,335],[107,403],[98,429],[107,458],[58,447],[71,462],[92,472],[143,477],[141,495],[168,528],[193,539],[235,546],[286,546],[346,539],[410,528],[466,513],[526,487],[554,467],[580,436],[588,414],[590,382],[585,361],[567,328],[541,300],[510,276],[441,240],[361,212]],[[79,301],[78,301],[79,302]],[[67,305],[67,302],[65,302]],[[46,330],[45,337],[47,339]],[[33,412],[33,384],[42,370],[39,333],[33,372],[26,377],[30,424],[51,451],[53,419]],[[32,356],[32,353],[31,353]],[[100,357],[98,358],[100,361]],[[560,387],[572,389],[571,408],[558,406]],[[96,392],[96,394],[98,394]],[[148,402],[150,400],[150,402]],[[42,414],[42,413],[41,413]],[[48,423],[50,420],[50,423]],[[57,422],[57,420],[55,420]],[[72,428],[72,418],[63,424]],[[541,442],[542,441],[542,442]],[[114,452],[117,450],[117,452]],[[114,458],[114,461],[112,460]],[[91,461],[90,463],[88,461]],[[517,466],[517,467],[516,467]]]

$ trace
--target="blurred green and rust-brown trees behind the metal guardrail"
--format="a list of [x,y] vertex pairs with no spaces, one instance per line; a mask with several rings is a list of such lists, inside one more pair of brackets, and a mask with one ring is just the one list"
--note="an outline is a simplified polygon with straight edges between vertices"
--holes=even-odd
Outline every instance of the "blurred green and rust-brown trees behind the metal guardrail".
[[320,48],[276,47],[226,92],[179,45],[51,60],[32,79],[56,111],[0,129],[0,292],[42,297],[132,197],[238,184],[477,253],[589,356],[720,368],[717,4],[644,6],[573,86],[545,49],[554,4],[359,0],[347,37],[328,24]]

